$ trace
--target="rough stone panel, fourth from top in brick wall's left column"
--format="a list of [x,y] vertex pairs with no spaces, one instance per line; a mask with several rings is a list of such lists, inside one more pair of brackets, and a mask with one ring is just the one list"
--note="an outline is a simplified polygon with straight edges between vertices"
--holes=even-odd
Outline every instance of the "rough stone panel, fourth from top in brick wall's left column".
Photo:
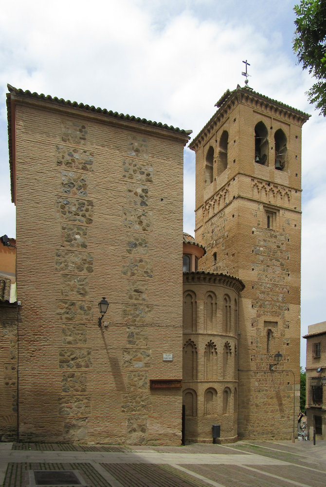
[[58,196],[56,199],[56,214],[60,220],[76,222],[85,225],[93,223],[93,202]]

